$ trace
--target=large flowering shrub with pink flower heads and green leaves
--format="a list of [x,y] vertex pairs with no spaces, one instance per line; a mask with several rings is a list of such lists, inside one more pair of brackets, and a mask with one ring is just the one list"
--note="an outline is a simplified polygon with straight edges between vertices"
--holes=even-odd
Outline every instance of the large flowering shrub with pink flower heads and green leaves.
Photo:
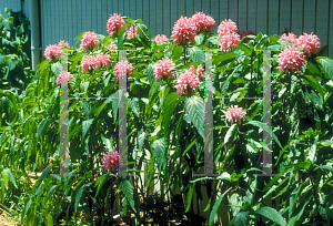
[[[194,195],[196,199],[200,196],[209,199],[209,205],[203,207],[209,209],[210,226],[225,198],[228,205],[223,208],[230,213],[234,225],[261,224],[261,216],[265,216],[264,224],[270,225],[307,224],[304,213],[315,210],[329,216],[333,60],[316,52],[320,45],[313,33],[296,39],[292,33],[268,37],[259,32],[248,37],[250,41],[241,42],[236,24],[231,20],[222,21],[218,33],[210,33],[212,20],[209,17],[203,13],[181,17],[168,42],[165,35],[152,38],[142,20],[113,14],[107,23],[110,35],[89,34],[87,38],[81,33],[77,38],[82,39],[82,43],[85,40],[84,49],[89,52],[71,47],[68,51],[69,72],[60,73],[61,59],[54,55],[61,48],[68,48],[61,41],[56,53],[49,54],[53,59],[39,64],[34,81],[19,97],[12,91],[0,90],[10,99],[10,102],[0,99],[1,112],[11,114],[8,119],[12,120],[0,126],[2,163],[11,163],[12,168],[21,172],[44,168],[33,189],[22,197],[22,224],[48,222],[51,225],[53,222],[60,225],[62,218],[75,225],[78,215],[87,214],[89,220],[97,219],[97,225],[111,225],[114,215],[121,216],[121,213],[133,214],[140,224],[141,210],[154,208],[152,203],[157,199],[150,202],[152,197],[142,195],[142,188],[155,179],[157,173],[162,185],[159,191],[161,199],[164,194],[172,196],[172,192],[179,189],[180,199],[186,201],[184,205],[180,204],[183,210],[191,208]],[[209,20],[210,25],[205,24]],[[129,25],[127,22],[132,30],[118,35],[120,29]],[[139,32],[133,35],[135,28]],[[130,40],[127,34],[132,35]],[[97,35],[101,44],[97,44]],[[218,51],[219,48],[222,52]],[[122,54],[115,54],[115,50],[124,49],[130,51],[127,51],[125,60],[121,60]],[[206,61],[205,50],[213,50],[211,62]],[[271,131],[263,122],[269,113],[263,109],[266,106],[263,91],[268,90],[264,83],[268,74],[264,73],[265,55],[260,50],[272,52]],[[204,74],[204,68],[210,64],[211,103],[205,92],[210,82]],[[82,73],[89,73],[89,76]],[[117,85],[120,75],[128,75],[125,114],[119,105],[120,94],[123,94]],[[68,80],[75,84],[69,90],[68,147],[69,171],[71,175],[79,175],[77,177],[57,175],[59,168],[48,165],[49,160],[44,161],[52,156],[54,164],[61,163],[58,148],[62,134],[57,130],[60,120],[56,110],[60,109],[61,97],[58,84]],[[193,178],[193,174],[206,168],[204,141],[208,134],[204,130],[209,117],[205,110],[211,106],[211,154],[214,158],[209,166],[220,176]],[[223,120],[223,113],[230,123]],[[120,132],[124,116],[129,132],[125,134],[125,166],[135,175],[131,179],[117,174],[121,151],[118,154],[113,150],[120,150],[122,144]],[[264,143],[268,138],[263,138],[263,134],[271,134],[271,144]],[[268,176],[265,183],[254,175],[263,171],[263,146],[271,146],[271,170],[280,174],[275,179]],[[110,150],[107,154],[105,148]],[[138,166],[147,163],[143,162],[144,155],[139,157],[139,152],[149,152],[151,156],[145,171],[148,184],[143,184],[138,174],[142,172]],[[49,174],[51,170],[52,175]],[[7,174],[4,171],[1,175]],[[29,176],[21,174],[17,179]],[[299,178],[306,179],[294,179],[296,174],[303,174]],[[219,195],[221,183],[229,188]],[[9,186],[14,187],[11,179]],[[203,186],[206,193],[201,192]],[[307,197],[304,199],[297,197],[302,186],[309,187],[302,191],[302,197]],[[261,205],[263,199],[270,202],[266,197],[272,192],[280,204],[286,205],[276,205],[276,209]],[[317,194],[321,194],[321,202],[315,198]],[[171,212],[162,215],[171,217]],[[325,220],[327,223],[329,217]],[[165,218],[155,222],[163,224]],[[193,220],[189,224],[193,225]]]

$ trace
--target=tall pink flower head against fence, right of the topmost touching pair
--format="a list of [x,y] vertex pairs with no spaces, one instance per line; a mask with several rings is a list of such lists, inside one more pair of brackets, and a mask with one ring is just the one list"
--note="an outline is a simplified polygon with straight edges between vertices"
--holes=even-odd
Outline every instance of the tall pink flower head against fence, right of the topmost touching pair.
[[218,27],[218,34],[220,39],[220,50],[223,51],[231,51],[233,47],[238,45],[241,42],[240,34],[236,32],[239,31],[235,22],[232,20],[224,20]]

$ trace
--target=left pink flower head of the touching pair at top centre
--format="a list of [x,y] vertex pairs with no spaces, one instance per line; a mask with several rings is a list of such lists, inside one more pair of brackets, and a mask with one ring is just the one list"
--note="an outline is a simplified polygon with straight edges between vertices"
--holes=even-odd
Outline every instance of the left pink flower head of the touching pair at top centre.
[[173,25],[172,35],[175,45],[193,42],[196,35],[196,25],[193,19],[181,17]]

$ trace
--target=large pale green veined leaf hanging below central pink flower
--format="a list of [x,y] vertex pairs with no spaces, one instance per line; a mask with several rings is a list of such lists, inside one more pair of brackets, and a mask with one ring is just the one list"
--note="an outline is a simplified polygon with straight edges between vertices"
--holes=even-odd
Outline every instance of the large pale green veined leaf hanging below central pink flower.
[[192,95],[185,99],[185,110],[199,134],[204,138],[204,102],[201,96]]

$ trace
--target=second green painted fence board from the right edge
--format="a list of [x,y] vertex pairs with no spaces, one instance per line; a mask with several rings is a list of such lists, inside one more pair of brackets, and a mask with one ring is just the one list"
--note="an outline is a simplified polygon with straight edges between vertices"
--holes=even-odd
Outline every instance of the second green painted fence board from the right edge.
[[314,32],[315,28],[315,0],[304,0],[303,32]]

